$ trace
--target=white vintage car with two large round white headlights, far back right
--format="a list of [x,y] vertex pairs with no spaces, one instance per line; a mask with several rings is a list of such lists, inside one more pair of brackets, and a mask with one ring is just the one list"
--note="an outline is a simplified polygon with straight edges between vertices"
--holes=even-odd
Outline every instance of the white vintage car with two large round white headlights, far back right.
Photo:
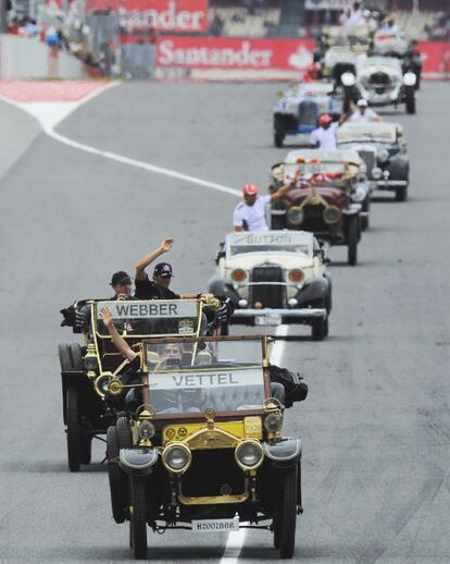
[[393,57],[367,57],[358,65],[357,74],[341,76],[347,99],[365,98],[370,106],[404,103],[407,113],[415,113],[416,76],[403,73],[401,62]]

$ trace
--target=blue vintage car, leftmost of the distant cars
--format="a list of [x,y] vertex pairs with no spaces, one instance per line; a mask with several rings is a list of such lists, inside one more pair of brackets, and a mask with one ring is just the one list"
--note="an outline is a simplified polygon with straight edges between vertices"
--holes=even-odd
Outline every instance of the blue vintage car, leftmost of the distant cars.
[[342,102],[334,96],[330,83],[312,82],[291,86],[274,108],[274,144],[283,147],[288,136],[299,145],[310,144],[310,134],[317,127],[321,113],[336,119],[342,111]]

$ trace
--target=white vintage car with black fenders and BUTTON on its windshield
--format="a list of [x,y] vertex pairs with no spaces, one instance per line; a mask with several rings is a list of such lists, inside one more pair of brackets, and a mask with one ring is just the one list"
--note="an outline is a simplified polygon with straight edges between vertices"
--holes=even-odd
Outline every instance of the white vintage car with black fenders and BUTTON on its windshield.
[[230,323],[312,327],[313,340],[328,334],[332,279],[312,233],[230,233],[217,254],[210,292],[230,297]]

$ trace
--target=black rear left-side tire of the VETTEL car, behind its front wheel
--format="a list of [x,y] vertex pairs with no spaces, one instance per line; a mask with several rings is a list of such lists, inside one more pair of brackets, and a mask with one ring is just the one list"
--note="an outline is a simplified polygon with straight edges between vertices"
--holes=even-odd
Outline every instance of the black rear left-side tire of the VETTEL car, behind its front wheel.
[[127,476],[118,466],[118,434],[115,425],[107,431],[108,478],[110,482],[111,505],[115,523],[124,523]]

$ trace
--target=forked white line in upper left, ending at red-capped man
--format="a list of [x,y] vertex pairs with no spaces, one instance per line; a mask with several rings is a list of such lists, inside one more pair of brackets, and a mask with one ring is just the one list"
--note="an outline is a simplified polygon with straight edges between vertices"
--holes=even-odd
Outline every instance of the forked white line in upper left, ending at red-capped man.
[[99,96],[108,88],[113,88],[117,86],[120,83],[110,83],[103,88],[99,88],[95,90],[90,95],[86,96],[82,100],[75,102],[17,102],[11,100],[5,97],[0,97],[3,101],[20,108],[21,110],[26,111],[28,114],[33,115],[41,125],[43,132],[51,138],[67,145],[74,149],[83,150],[85,152],[90,152],[91,155],[97,155],[104,159],[114,160],[120,162],[121,164],[127,164],[129,167],[135,167],[137,169],[142,169],[148,172],[152,172],[155,174],[161,174],[163,176],[170,176],[172,179],[177,179],[183,182],[189,182],[195,184],[196,186],[203,186],[207,188],[214,189],[216,192],[223,192],[225,194],[230,194],[232,196],[241,197],[241,192],[236,188],[232,188],[229,186],[224,186],[223,184],[217,184],[216,182],[205,181],[203,179],[199,179],[197,176],[191,176],[189,174],[184,174],[182,172],[177,172],[175,170],[165,169],[163,167],[158,167],[155,164],[151,164],[150,162],[140,161],[137,159],[132,159],[129,157],[125,157],[123,155],[118,155],[116,152],[111,152],[107,150],[99,149],[97,147],[92,147],[91,145],[86,145],[84,143],[78,143],[65,135],[61,135],[54,131],[54,127],[61,123],[65,118],[67,118],[71,113],[77,110],[82,105],[91,100],[92,98]]

